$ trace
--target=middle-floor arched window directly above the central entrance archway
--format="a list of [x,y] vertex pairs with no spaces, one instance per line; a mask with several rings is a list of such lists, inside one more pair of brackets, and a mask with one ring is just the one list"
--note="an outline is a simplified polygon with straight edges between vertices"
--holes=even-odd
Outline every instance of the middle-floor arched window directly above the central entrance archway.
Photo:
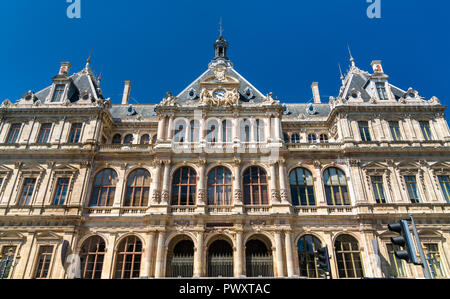
[[226,167],[216,167],[208,175],[208,204],[231,205],[233,183],[231,171]]

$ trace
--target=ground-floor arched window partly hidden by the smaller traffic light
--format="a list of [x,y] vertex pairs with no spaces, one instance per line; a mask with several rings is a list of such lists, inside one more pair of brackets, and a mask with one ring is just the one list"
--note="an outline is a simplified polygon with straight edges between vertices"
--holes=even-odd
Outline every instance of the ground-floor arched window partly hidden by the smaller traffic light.
[[303,236],[298,241],[298,263],[300,276],[319,278],[316,252],[322,248],[320,240],[312,235]]

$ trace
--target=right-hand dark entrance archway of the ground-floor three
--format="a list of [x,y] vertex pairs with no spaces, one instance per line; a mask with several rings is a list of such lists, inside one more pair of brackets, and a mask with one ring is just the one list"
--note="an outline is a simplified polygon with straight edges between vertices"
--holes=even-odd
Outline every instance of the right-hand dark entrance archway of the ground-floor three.
[[251,239],[245,245],[247,277],[273,277],[273,256],[267,242]]

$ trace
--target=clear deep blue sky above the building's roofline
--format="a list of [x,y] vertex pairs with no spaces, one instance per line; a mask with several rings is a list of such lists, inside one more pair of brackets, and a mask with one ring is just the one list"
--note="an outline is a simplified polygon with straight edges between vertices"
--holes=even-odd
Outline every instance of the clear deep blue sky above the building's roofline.
[[235,68],[263,93],[308,102],[311,83],[337,96],[338,63],[383,60],[390,82],[449,104],[450,4],[381,0],[381,19],[369,19],[366,0],[81,0],[81,19],[69,19],[66,0],[0,3],[0,100],[17,100],[51,84],[59,63],[81,70],[91,49],[103,70],[102,90],[120,103],[131,80],[132,101],[157,103],[178,94],[214,56],[223,17]]

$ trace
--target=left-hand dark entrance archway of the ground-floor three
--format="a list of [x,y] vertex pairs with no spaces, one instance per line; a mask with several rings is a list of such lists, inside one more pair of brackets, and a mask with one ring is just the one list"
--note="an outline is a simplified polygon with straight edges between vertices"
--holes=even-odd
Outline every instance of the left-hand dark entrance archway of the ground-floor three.
[[167,254],[167,277],[194,276],[194,242],[185,238],[173,243]]

